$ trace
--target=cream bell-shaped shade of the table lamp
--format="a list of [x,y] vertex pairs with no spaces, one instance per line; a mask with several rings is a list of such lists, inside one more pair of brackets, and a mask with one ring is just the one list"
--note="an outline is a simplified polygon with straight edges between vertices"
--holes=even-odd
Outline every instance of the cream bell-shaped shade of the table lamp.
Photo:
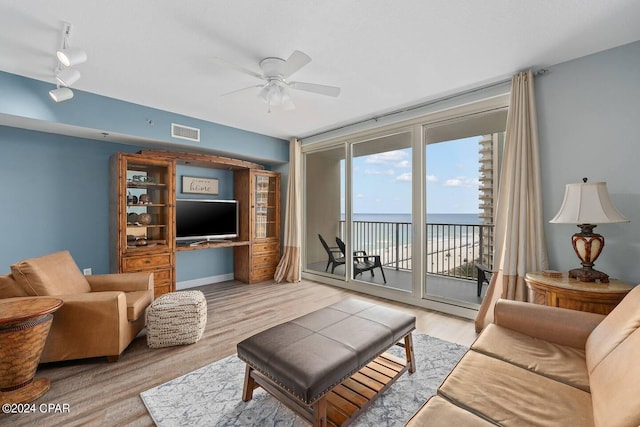
[[560,211],[549,221],[557,224],[629,222],[613,205],[606,182],[567,184]]

